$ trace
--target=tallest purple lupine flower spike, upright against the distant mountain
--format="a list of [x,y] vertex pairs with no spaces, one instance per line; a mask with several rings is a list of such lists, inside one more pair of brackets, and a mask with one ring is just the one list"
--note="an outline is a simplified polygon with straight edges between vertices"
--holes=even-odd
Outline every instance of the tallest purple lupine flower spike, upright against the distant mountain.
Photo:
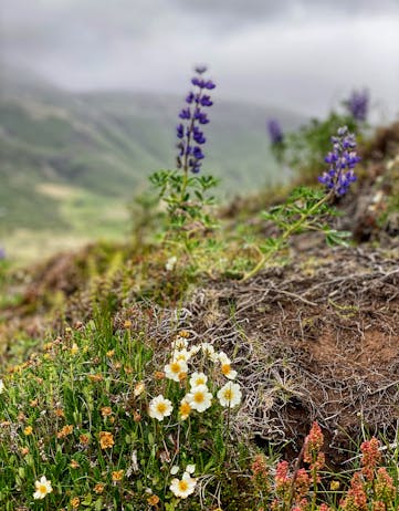
[[186,103],[192,106],[186,106],[181,109],[179,117],[183,121],[183,124],[179,124],[176,128],[177,137],[179,138],[177,167],[182,168],[185,173],[188,173],[188,170],[193,174],[199,173],[201,160],[204,158],[200,146],[207,142],[207,138],[200,126],[208,124],[209,118],[202,108],[212,106],[213,102],[206,91],[216,87],[211,80],[202,79],[206,71],[206,66],[196,67],[198,75],[191,79],[191,84],[195,85],[196,90],[190,91],[186,96]]

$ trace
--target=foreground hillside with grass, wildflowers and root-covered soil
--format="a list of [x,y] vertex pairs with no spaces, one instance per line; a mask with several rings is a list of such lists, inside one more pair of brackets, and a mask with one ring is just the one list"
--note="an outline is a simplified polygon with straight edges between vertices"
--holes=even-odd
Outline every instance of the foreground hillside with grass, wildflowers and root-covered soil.
[[359,150],[319,217],[351,241],[301,230],[248,280],[279,239],[265,195],[191,251],[141,236],[0,261],[1,505],[43,509],[44,477],[48,509],[396,511],[399,123]]

